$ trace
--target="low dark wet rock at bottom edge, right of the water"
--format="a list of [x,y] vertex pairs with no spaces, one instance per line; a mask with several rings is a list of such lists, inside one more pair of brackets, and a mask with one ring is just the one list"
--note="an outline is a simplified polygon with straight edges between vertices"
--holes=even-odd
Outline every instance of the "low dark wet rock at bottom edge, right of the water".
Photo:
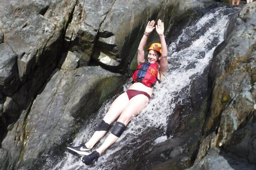
[[191,155],[197,148],[199,133],[190,131],[157,144],[137,163],[135,169],[185,169],[191,165]]

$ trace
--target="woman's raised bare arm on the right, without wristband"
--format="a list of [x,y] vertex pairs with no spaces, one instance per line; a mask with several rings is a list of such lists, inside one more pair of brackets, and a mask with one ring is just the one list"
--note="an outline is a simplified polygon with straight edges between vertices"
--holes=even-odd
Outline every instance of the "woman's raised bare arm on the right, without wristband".
[[162,20],[157,21],[157,25],[156,25],[155,29],[159,35],[160,43],[162,46],[162,56],[161,56],[161,60],[160,60],[160,67],[161,67],[162,72],[165,73],[167,71],[167,67],[168,67],[168,61],[167,61],[168,51],[167,51],[167,45],[166,45],[165,36],[164,36],[164,23],[162,22]]

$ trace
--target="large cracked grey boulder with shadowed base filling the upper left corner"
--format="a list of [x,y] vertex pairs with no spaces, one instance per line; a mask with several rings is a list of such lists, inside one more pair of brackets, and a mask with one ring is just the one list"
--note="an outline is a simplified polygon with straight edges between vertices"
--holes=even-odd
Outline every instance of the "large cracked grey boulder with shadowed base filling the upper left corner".
[[[75,2],[1,0],[0,3],[2,139],[8,125],[12,126],[30,109],[39,88],[56,68]],[[27,113],[24,114],[25,119]]]

